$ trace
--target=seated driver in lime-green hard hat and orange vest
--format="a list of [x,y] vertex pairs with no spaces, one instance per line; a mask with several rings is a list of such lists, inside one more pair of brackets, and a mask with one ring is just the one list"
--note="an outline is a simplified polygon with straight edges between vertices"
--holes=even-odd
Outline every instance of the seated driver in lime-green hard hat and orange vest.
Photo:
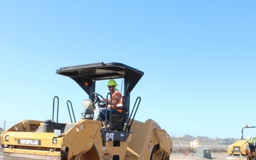
[[[107,101],[105,98],[103,99],[104,102],[107,102],[107,109],[106,105],[100,105],[98,103],[97,105],[101,107],[100,109],[100,119],[102,120],[102,128],[105,128],[105,116],[106,112],[108,115],[110,115],[110,110],[112,111],[112,114],[121,114],[122,110],[118,109],[118,107],[122,107],[122,93],[117,90],[117,82],[115,80],[109,80],[107,82],[107,87],[110,90],[110,99]],[[107,128],[109,127],[109,120],[107,119]]]

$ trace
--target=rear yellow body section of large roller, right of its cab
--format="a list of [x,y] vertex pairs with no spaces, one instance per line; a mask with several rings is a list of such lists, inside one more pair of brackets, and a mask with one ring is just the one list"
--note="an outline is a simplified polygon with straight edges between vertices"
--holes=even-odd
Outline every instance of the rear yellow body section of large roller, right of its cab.
[[129,148],[130,155],[137,159],[169,159],[173,142],[171,137],[159,124],[152,119],[145,123],[134,120],[131,128],[133,133]]

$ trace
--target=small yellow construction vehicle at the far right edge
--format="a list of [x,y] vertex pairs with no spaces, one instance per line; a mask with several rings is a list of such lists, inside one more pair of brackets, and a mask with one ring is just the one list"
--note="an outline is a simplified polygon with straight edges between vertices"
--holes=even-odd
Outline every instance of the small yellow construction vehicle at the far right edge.
[[[255,160],[255,144],[250,144],[247,142],[246,139],[243,138],[243,129],[250,129],[250,128],[256,128],[254,126],[248,127],[246,124],[245,127],[242,127],[242,137],[237,142],[231,144],[228,147],[228,157],[227,159],[230,160],[239,160],[239,159],[248,159],[248,160]],[[251,150],[252,149],[252,150]]]

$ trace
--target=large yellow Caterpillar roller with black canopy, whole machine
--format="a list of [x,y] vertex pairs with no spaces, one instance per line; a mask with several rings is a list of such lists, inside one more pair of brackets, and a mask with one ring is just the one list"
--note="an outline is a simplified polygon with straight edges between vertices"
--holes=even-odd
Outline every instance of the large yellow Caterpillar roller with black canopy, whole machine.
[[[144,75],[142,71],[122,63],[93,63],[60,68],[56,73],[72,78],[89,95],[83,102],[81,119],[73,122],[70,114],[70,123],[58,122],[57,106],[55,121],[58,97],[54,97],[52,119],[26,119],[1,134],[4,159],[169,160],[173,146],[169,134],[152,119],[134,119],[141,97],[130,110],[130,93]],[[96,82],[118,78],[124,80],[123,112],[107,114],[110,127],[102,129],[101,121],[95,118],[95,103],[103,102],[95,92]],[[75,119],[74,112],[73,116]]]

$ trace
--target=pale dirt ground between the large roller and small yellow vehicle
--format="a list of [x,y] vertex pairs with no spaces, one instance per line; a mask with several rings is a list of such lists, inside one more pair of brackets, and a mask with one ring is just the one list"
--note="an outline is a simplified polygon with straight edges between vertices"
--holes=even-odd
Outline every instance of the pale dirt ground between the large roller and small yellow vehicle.
[[[226,152],[221,152],[221,153],[211,153],[211,159],[215,159],[215,160],[218,160],[218,159],[226,159],[228,156],[228,154]],[[204,159],[202,157],[199,157],[199,156],[196,156],[196,154],[177,154],[177,153],[171,153],[171,156],[170,156],[170,159],[171,160],[181,160],[181,159],[186,159],[186,160],[189,160],[189,159]]]

